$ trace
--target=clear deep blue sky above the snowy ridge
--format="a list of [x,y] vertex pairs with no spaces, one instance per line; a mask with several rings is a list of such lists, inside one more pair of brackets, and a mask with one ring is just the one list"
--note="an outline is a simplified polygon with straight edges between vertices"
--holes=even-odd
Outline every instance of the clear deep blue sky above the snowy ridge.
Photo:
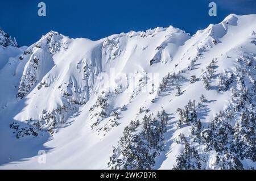
[[[38,16],[39,2],[46,17]],[[217,3],[217,16],[208,15],[209,2]],[[231,13],[256,14],[256,0],[1,0],[0,9],[0,27],[30,45],[50,30],[92,40],[170,25],[193,34]]]

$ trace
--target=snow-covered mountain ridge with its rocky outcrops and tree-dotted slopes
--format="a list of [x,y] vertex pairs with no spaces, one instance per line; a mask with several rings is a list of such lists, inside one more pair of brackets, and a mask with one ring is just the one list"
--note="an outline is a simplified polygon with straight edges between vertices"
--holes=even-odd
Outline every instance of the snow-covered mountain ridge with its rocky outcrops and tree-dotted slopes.
[[234,14],[193,36],[0,30],[0,169],[256,169],[255,32]]

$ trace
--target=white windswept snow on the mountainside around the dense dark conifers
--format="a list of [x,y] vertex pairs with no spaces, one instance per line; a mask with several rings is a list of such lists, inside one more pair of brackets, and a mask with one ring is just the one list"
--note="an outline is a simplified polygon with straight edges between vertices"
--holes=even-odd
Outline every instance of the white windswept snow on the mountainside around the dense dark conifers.
[[[141,107],[154,115],[162,110],[168,113],[164,149],[152,169],[173,169],[184,150],[176,140],[180,133],[189,137],[192,128],[177,128],[177,108],[184,108],[189,100],[199,103],[203,94],[207,102],[197,118],[208,128],[216,113],[232,104],[232,90],[218,91],[216,77],[209,90],[203,85],[204,71],[213,59],[214,75],[226,70],[236,77],[237,60],[250,56],[254,67],[247,69],[251,72],[246,81],[255,84],[254,32],[256,15],[232,14],[193,36],[172,26],[98,41],[51,31],[30,47],[0,46],[0,169],[110,169],[113,146],[117,147],[130,121],[139,119]],[[158,76],[143,86],[146,73]],[[188,80],[177,82],[181,95],[176,96],[175,86],[158,90],[168,73]],[[125,75],[126,83],[120,75]],[[197,78],[193,83],[189,82],[192,75]],[[130,83],[133,79],[139,81]],[[152,82],[157,90],[143,91]],[[99,97],[106,99],[106,107],[96,105]],[[102,110],[104,116],[100,116]],[[18,128],[10,128],[13,123]],[[253,129],[255,135],[255,125]],[[39,150],[46,151],[46,163],[38,161]],[[216,169],[215,156],[214,151],[205,156],[205,169]],[[256,169],[251,159],[240,158],[240,162],[244,169]]]

